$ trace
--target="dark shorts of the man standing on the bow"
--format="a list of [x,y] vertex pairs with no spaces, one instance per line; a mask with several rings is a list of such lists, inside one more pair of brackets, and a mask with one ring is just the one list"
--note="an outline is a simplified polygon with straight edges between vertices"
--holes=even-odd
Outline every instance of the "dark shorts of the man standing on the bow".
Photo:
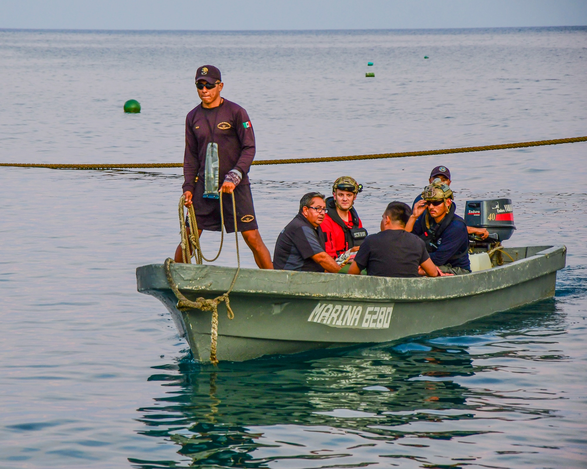
[[[220,201],[218,199],[204,199],[204,181],[195,183],[194,203],[195,220],[198,228],[207,231],[221,231]],[[238,231],[258,229],[257,217],[253,206],[253,196],[250,184],[239,184],[234,189],[234,201],[237,205]],[[227,233],[234,233],[234,215],[232,214],[232,196],[222,194],[224,208],[224,227]],[[187,219],[186,224],[189,226]]]

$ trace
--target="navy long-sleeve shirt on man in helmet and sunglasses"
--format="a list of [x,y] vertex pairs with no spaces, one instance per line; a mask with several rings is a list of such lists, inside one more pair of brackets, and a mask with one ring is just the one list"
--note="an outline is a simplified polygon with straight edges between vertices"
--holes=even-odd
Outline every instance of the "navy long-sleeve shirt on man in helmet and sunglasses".
[[[422,213],[414,223],[414,227],[411,230],[414,235],[422,235],[422,217],[426,216],[426,212]],[[430,220],[431,223],[434,222],[434,219]],[[468,249],[469,247],[469,235],[467,233],[467,225],[465,225],[465,220],[463,220],[458,215],[453,215],[453,220],[450,224],[446,227],[440,239],[436,244],[438,249],[433,253],[430,253],[430,259],[436,264],[437,266],[444,266],[444,264],[450,263],[453,267],[461,267],[461,269],[471,270],[471,263],[469,261],[468,254],[465,256],[460,257],[459,259],[454,259],[449,261],[451,257],[455,254],[462,253],[464,249]]]

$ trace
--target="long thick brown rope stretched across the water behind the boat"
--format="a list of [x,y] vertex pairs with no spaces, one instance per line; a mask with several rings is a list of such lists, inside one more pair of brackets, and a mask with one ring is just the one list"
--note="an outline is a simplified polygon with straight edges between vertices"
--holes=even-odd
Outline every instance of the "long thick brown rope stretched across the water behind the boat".
[[[559,145],[563,143],[585,142],[587,137],[557,138],[556,140],[539,140],[535,142],[507,143],[502,145],[484,145],[483,147],[445,148],[439,150],[403,151],[397,153],[379,153],[373,155],[352,155],[349,157],[324,158],[288,158],[258,159],[252,165],[284,165],[293,163],[323,163],[331,161],[354,161],[357,159],[382,159],[424,157],[427,155],[446,155],[451,153],[468,153],[473,151],[501,150],[508,148],[542,147],[543,145]],[[137,163],[137,164],[33,164],[33,163],[0,163],[0,166],[16,166],[18,168],[49,168],[49,169],[129,169],[129,168],[182,168],[183,163]]]

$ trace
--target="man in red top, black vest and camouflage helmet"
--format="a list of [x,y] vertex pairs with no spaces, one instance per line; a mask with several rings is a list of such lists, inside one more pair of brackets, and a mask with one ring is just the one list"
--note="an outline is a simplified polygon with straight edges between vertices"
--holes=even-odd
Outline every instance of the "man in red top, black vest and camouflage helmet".
[[326,199],[326,216],[320,225],[325,236],[326,253],[332,259],[351,250],[359,250],[359,245],[367,236],[353,204],[363,186],[350,176],[340,176],[332,185],[332,197]]

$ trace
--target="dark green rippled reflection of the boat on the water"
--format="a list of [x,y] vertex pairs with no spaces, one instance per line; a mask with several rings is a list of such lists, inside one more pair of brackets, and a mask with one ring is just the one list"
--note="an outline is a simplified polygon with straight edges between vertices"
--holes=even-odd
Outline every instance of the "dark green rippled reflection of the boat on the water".
[[[538,408],[535,396],[528,396],[533,404],[525,408],[524,402],[504,402],[501,391],[469,388],[466,380],[475,374],[499,373],[495,367],[500,359],[509,364],[517,359],[517,371],[525,362],[535,370],[536,361],[545,358],[528,351],[537,335],[527,332],[540,329],[541,339],[557,348],[551,336],[559,334],[561,321],[555,301],[545,300],[441,334],[367,348],[224,362],[215,369],[187,357],[177,365],[155,367],[159,369],[150,380],[165,383],[167,393],[155,399],[156,405],[139,409],[140,420],[146,424],[141,433],[173,442],[178,457],[191,458],[194,465],[214,467],[268,467],[271,461],[263,457],[268,446],[273,460],[287,459],[293,451],[300,463],[305,461],[303,467],[321,466],[311,461],[315,448],[298,439],[303,433],[316,441],[353,439],[343,446],[343,453],[362,457],[366,463],[373,460],[372,454],[346,447],[366,446],[375,453],[414,458],[441,454],[429,448],[441,444],[456,457],[467,446],[457,440],[476,441],[481,446],[485,437],[479,435],[488,419],[509,422],[514,415],[519,420],[549,415],[548,409]],[[484,354],[471,356],[470,346],[483,346]],[[474,358],[485,360],[475,365]],[[483,414],[481,409],[489,401],[492,408]],[[441,424],[448,420],[453,422],[450,428]],[[417,427],[434,423],[438,424],[434,430]],[[350,456],[340,458],[330,464],[353,463],[346,460]],[[176,467],[171,461],[170,465],[131,462],[141,468]]]

